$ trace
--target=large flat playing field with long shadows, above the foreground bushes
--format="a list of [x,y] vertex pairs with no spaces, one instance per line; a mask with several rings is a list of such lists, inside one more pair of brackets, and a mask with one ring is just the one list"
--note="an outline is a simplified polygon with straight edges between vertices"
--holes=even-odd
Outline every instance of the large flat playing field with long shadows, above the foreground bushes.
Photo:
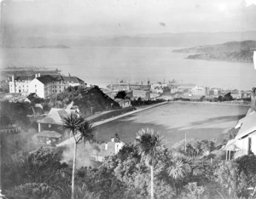
[[187,138],[213,139],[234,127],[247,113],[248,107],[236,105],[194,104],[187,102],[160,105],[128,117],[97,126],[98,140],[110,140],[119,134],[129,143],[141,128],[154,128],[163,135],[168,146]]

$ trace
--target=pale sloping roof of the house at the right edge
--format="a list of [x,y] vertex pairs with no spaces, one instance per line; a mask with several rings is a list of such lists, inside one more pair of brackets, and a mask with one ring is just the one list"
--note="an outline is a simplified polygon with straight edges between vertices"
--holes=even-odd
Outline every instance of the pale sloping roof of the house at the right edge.
[[240,129],[236,135],[236,139],[241,139],[242,137],[247,136],[248,134],[252,134],[256,131],[256,112],[253,111],[247,115],[247,117],[243,117],[236,125],[236,128]]

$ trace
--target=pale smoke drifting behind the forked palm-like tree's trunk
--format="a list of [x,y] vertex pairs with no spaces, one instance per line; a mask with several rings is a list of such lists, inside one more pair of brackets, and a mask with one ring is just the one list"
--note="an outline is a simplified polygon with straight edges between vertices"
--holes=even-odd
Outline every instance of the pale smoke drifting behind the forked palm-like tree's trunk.
[[[90,161],[90,153],[93,151],[93,147],[90,145],[89,142],[86,142],[85,145],[79,144],[77,146],[77,163],[76,168],[81,167],[89,167],[93,166],[92,162]],[[62,162],[66,162],[69,165],[73,165],[73,156],[74,156],[74,145],[65,145],[65,148],[62,153]]]

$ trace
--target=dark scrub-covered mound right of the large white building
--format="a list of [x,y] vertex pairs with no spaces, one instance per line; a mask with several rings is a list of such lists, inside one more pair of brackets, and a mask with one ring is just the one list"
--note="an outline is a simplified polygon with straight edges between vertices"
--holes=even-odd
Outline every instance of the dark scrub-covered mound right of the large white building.
[[98,87],[74,87],[67,89],[55,97],[55,106],[64,107],[71,101],[79,106],[79,111],[85,117],[89,117],[96,112],[119,109],[119,104],[104,94]]

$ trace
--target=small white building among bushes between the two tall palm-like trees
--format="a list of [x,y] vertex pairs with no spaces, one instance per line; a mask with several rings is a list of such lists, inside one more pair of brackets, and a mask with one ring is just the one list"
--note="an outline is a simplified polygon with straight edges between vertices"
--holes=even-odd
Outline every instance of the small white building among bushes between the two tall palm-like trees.
[[111,141],[98,145],[97,148],[90,153],[90,156],[94,160],[102,162],[104,157],[118,154],[124,145],[125,143],[119,141],[119,139],[112,138]]

